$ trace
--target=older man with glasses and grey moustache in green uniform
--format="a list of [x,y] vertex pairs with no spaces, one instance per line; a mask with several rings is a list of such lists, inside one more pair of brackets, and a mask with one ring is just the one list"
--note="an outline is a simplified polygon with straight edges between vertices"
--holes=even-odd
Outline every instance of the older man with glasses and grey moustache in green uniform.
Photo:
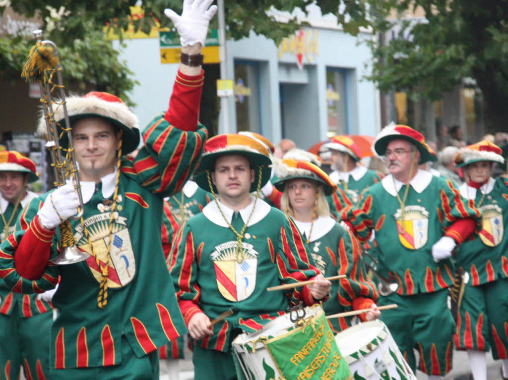
[[[379,304],[396,303],[381,319],[413,370],[437,379],[452,367],[454,321],[447,306],[453,284],[452,251],[475,227],[480,211],[461,197],[450,181],[421,170],[431,159],[423,135],[405,125],[390,125],[376,137],[374,150],[385,156],[390,174],[360,195],[341,219],[361,241],[375,231],[377,271],[398,284]],[[440,260],[440,261],[439,261]]]

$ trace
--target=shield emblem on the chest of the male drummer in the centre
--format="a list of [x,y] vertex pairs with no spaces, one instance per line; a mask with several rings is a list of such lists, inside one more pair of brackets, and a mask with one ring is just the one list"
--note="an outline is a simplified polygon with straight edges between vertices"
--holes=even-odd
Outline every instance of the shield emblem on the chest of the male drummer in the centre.
[[229,301],[238,302],[250,297],[256,287],[256,272],[258,270],[258,252],[251,244],[242,243],[242,252],[238,254],[237,241],[215,247],[211,254],[215,277],[220,294]]

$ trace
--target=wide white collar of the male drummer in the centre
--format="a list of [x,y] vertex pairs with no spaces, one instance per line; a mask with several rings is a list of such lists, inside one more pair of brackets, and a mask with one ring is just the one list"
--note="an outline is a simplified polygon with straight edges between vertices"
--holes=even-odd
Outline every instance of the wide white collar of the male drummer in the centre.
[[[249,205],[245,209],[240,210],[240,215],[242,216],[243,222],[245,223],[247,220],[249,221],[247,227],[258,223],[260,220],[266,217],[271,210],[271,207],[268,203],[258,198],[256,202],[256,209],[252,212],[252,215],[250,215],[250,212],[254,207],[254,200],[254,197],[251,196]],[[221,203],[218,199],[217,203],[220,205],[220,210],[222,210],[222,213],[228,222],[231,223],[234,213],[233,209],[230,209],[224,203]],[[217,203],[212,200],[210,203],[204,206],[203,214],[208,220],[210,220],[210,222],[213,222],[221,227],[229,227],[228,223],[226,223],[223,216],[221,215],[220,210],[217,207]]]

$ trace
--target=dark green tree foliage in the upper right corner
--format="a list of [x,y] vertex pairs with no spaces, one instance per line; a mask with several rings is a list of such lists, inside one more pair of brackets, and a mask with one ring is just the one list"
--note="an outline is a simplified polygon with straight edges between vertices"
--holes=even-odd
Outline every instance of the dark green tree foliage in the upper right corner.
[[[375,0],[380,14],[386,2]],[[391,4],[399,12],[420,6],[425,20],[392,26],[373,19],[374,30],[388,32],[385,44],[371,42],[373,80],[382,91],[402,90],[438,100],[464,78],[472,78],[481,90],[487,128],[504,129],[508,120],[508,1],[415,0]]]

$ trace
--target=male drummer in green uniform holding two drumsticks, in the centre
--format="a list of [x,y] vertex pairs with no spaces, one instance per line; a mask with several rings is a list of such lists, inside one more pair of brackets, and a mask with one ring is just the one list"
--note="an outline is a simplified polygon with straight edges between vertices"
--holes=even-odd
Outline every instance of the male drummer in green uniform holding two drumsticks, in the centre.
[[[311,305],[330,292],[294,222],[250,196],[269,180],[270,164],[266,148],[245,135],[217,135],[205,144],[195,181],[214,199],[181,226],[170,263],[178,304],[196,339],[196,380],[235,379],[231,342],[239,333],[257,331],[288,306]],[[311,279],[316,282],[265,291]],[[211,326],[228,309],[233,315]]]

